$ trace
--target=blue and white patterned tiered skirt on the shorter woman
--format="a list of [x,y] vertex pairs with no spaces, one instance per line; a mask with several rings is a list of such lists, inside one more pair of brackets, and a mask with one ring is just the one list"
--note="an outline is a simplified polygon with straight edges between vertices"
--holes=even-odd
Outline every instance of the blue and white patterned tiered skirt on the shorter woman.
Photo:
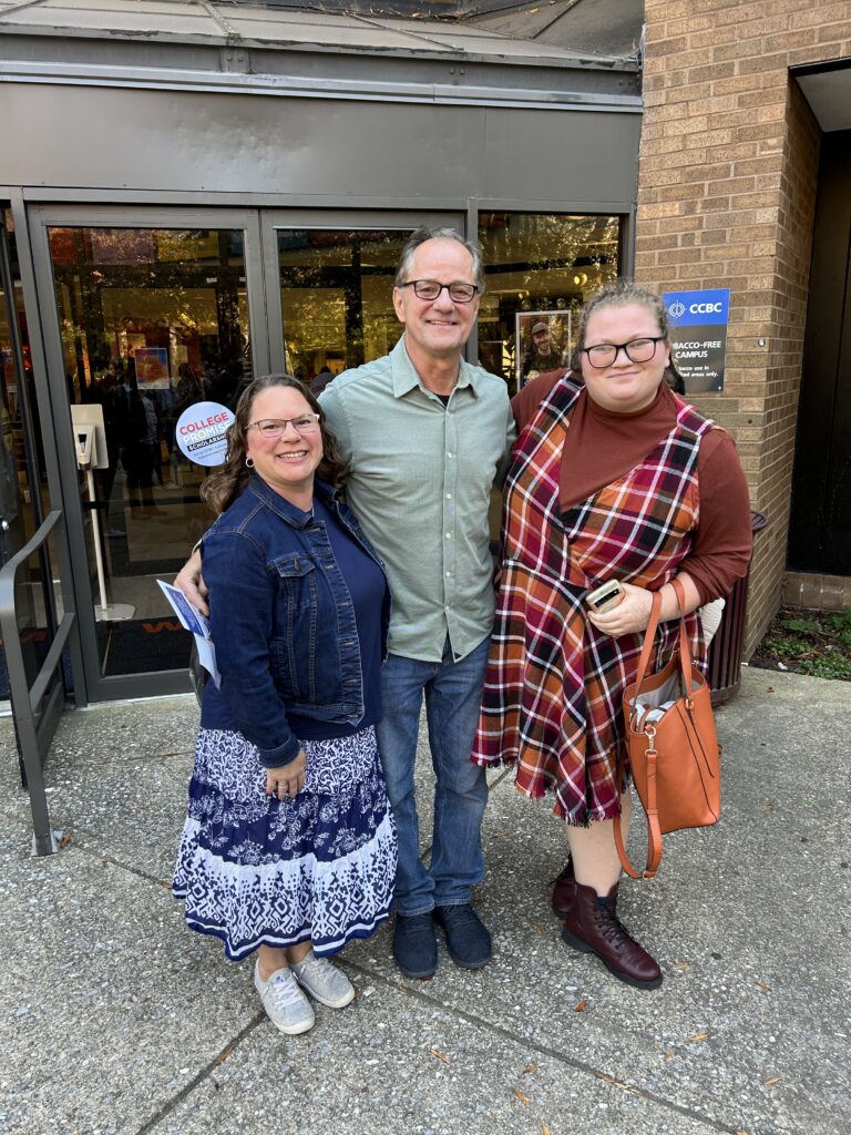
[[390,909],[396,830],[374,729],[303,748],[304,788],[278,800],[242,733],[199,731],[172,892],[234,961],[261,944],[336,953]]

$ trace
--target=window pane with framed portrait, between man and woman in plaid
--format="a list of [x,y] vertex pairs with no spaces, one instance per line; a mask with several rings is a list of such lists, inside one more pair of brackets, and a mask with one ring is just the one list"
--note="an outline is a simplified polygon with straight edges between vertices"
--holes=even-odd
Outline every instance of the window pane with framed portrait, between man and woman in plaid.
[[620,221],[480,215],[488,288],[479,308],[479,361],[512,393],[544,370],[567,365],[582,304],[618,274]]

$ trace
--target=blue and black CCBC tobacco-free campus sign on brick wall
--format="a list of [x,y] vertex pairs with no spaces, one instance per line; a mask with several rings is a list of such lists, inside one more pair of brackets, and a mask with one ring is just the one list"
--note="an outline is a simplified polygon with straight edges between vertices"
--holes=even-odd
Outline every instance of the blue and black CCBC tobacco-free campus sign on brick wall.
[[686,394],[724,388],[727,353],[730,288],[665,292],[662,296],[671,327],[674,365]]

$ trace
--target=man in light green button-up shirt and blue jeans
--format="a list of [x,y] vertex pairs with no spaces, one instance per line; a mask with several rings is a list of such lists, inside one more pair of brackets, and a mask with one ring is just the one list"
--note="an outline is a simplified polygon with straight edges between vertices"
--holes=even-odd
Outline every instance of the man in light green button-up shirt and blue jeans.
[[[477,245],[418,229],[393,293],[402,338],[320,398],[347,465],[346,498],[393,596],[377,732],[399,839],[394,956],[411,977],[435,973],[436,922],[458,965],[483,966],[491,950],[470,903],[485,873],[487,802],[470,751],[494,617],[488,504],[514,424],[505,381],[462,358],[483,289]],[[436,775],[429,868],[414,797],[423,696]]]

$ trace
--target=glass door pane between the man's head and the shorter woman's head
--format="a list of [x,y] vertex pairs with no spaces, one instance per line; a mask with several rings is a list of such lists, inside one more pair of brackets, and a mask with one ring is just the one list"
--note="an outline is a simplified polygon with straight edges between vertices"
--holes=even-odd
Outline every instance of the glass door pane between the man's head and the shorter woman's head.
[[[390,351],[396,263],[411,230],[278,229],[286,365],[313,384]],[[322,382],[319,378],[318,382]]]

